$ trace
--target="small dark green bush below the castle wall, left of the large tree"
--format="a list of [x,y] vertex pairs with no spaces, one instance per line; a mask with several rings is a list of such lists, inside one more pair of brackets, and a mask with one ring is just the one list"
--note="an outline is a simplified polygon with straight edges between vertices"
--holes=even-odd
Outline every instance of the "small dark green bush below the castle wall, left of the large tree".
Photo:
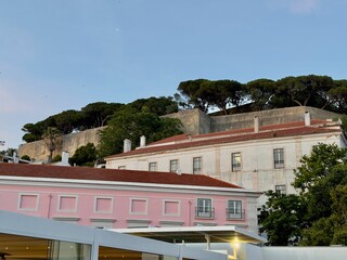
[[68,159],[70,165],[93,167],[98,159],[97,147],[93,143],[88,143],[76,150],[73,157]]

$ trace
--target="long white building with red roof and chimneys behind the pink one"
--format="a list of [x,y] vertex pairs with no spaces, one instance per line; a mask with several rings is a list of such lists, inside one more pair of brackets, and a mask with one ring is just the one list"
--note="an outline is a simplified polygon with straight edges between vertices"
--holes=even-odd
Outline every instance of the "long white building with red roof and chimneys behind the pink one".
[[[300,158],[319,143],[346,146],[339,121],[311,119],[207,134],[181,134],[105,158],[106,168],[203,173],[257,192],[295,193]],[[129,147],[129,146],[128,146]],[[260,199],[264,203],[265,197]]]

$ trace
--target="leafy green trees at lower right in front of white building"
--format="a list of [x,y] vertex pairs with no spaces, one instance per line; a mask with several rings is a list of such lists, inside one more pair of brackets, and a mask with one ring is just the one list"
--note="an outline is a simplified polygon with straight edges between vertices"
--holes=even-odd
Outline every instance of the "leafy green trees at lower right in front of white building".
[[[291,244],[293,237],[305,246],[347,245],[347,150],[319,144],[300,162],[293,183],[299,195],[277,197],[267,193],[269,202],[261,209],[260,230],[268,233],[271,245],[284,245],[285,239]],[[300,210],[295,202],[283,206],[292,196],[296,196]],[[290,212],[295,212],[296,219]]]

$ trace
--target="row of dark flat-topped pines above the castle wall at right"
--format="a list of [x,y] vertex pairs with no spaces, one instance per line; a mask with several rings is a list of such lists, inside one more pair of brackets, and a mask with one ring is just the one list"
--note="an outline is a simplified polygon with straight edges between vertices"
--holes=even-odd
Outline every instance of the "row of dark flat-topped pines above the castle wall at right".
[[[241,89],[240,89],[241,87]],[[245,101],[254,110],[291,106],[313,106],[347,113],[347,80],[329,76],[290,76],[273,81],[256,79],[241,84],[234,80],[196,79],[182,81],[175,99],[183,108],[196,107],[207,113],[210,108],[240,106]]]

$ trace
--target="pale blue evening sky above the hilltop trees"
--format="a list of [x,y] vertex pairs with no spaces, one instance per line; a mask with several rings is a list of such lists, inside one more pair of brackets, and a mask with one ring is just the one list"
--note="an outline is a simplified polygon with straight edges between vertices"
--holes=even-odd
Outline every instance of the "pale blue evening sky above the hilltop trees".
[[346,0],[0,0],[0,151],[28,122],[185,80],[346,79]]

